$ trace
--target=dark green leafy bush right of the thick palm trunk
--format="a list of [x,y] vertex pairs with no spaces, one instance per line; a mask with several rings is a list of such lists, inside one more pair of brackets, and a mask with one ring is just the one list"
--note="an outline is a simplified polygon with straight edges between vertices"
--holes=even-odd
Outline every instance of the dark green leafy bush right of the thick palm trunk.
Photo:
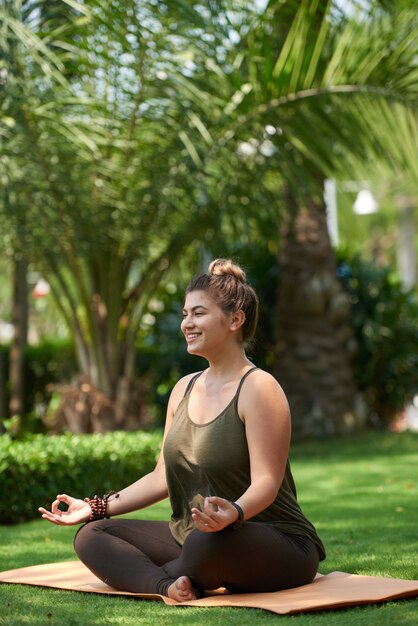
[[375,425],[388,423],[418,393],[418,300],[390,267],[339,253],[357,340],[354,371]]

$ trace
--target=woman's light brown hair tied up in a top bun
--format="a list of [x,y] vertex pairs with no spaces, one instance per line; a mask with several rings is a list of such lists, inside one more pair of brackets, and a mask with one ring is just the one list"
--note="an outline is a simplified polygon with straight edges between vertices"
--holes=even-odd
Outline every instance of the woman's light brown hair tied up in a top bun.
[[207,291],[224,313],[243,311],[243,341],[250,341],[258,321],[258,298],[254,289],[246,282],[245,272],[230,259],[215,259],[207,274],[195,276],[186,288],[191,291]]

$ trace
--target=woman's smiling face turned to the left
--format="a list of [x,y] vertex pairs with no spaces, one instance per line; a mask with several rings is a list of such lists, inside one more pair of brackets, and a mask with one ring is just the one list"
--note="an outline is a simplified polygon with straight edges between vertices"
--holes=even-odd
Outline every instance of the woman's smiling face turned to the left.
[[222,350],[239,327],[233,317],[224,313],[206,291],[188,293],[181,330],[189,354],[210,358]]

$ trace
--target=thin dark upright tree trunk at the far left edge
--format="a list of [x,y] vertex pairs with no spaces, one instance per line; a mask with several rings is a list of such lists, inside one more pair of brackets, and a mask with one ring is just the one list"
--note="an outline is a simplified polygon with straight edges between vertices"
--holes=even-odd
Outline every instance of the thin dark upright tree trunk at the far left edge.
[[27,262],[15,259],[13,277],[13,340],[9,356],[10,417],[22,417],[25,410],[24,355],[28,335],[28,284]]

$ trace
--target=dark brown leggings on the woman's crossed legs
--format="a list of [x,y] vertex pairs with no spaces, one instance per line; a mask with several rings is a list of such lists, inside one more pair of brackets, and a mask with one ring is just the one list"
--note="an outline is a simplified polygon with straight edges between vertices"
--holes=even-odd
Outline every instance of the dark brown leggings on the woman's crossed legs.
[[278,591],[311,582],[318,568],[310,539],[255,522],[216,533],[196,529],[180,546],[168,522],[105,519],[82,526],[74,547],[100,580],[135,593],[167,595],[183,575],[200,592]]

